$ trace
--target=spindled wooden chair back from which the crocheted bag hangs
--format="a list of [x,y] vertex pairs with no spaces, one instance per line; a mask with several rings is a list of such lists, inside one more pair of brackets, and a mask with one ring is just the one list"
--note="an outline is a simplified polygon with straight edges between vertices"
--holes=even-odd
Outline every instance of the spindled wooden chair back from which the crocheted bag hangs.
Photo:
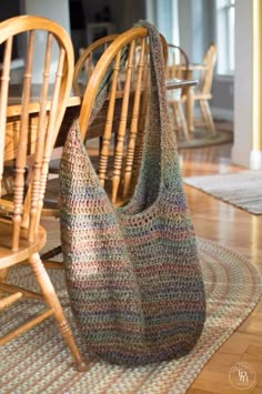
[[[79,124],[84,140],[92,131],[95,115],[104,114],[98,176],[103,186],[110,178],[111,190],[108,192],[113,203],[118,198],[123,202],[130,195],[140,165],[149,93],[148,39],[144,28],[132,28],[119,34],[94,67],[82,100]],[[94,115],[95,98],[104,80],[109,81],[104,87],[105,105],[102,110],[97,109]],[[113,147],[111,152],[110,147]]]

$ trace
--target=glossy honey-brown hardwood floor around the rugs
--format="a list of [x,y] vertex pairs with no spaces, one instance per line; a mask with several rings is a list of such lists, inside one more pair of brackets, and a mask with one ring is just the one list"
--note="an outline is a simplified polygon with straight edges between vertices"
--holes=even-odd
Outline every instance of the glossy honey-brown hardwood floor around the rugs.
[[[182,174],[240,171],[231,164],[231,148],[226,144],[181,150]],[[190,186],[185,186],[185,192],[196,235],[243,253],[262,272],[262,215],[246,213]],[[241,393],[229,381],[230,368],[239,362],[249,363],[256,372],[255,385],[242,392],[262,394],[262,301],[206,363],[188,393]]]

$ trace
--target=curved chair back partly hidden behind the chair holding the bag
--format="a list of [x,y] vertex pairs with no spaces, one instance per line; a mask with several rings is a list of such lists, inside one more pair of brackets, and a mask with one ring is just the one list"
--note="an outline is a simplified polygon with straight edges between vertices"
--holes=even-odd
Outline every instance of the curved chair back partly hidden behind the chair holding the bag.
[[94,65],[101,54],[117,37],[118,34],[102,37],[101,39],[92,42],[87,49],[81,50],[73,72],[73,91],[77,95],[82,95]]

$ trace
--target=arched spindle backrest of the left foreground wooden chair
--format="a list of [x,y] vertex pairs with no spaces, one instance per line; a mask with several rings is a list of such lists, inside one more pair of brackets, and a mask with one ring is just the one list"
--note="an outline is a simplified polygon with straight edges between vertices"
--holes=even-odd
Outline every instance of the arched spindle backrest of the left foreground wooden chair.
[[[16,42],[22,43],[26,51],[19,85],[12,84],[10,78]],[[63,28],[32,16],[1,22],[0,44],[3,53],[0,77],[0,195],[4,192],[1,190],[4,163],[7,160],[16,162],[13,201],[1,200],[0,215],[7,214],[12,220],[11,250],[16,251],[22,228],[27,229],[30,242],[38,236],[49,160],[71,90],[73,49]],[[39,55],[40,44],[42,57]],[[39,78],[37,84],[36,75]],[[36,113],[38,121],[32,122],[31,117]],[[10,118],[12,128],[9,127]],[[29,182],[26,182],[29,154],[31,171]]]

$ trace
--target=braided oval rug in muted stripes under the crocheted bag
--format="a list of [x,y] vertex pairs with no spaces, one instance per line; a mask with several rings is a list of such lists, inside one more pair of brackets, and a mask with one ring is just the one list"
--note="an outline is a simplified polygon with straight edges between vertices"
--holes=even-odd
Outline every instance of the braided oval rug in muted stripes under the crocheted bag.
[[[58,233],[51,234],[52,242],[56,239]],[[198,244],[208,317],[202,336],[189,355],[140,367],[121,367],[92,358],[89,371],[78,373],[54,321],[49,319],[1,347],[0,393],[185,393],[212,354],[254,309],[261,294],[260,274],[244,256],[205,239],[198,239]],[[49,272],[81,348],[63,272]],[[33,289],[27,266],[13,269],[9,281]],[[40,307],[34,301],[17,303],[2,313],[0,330],[14,327]]]

